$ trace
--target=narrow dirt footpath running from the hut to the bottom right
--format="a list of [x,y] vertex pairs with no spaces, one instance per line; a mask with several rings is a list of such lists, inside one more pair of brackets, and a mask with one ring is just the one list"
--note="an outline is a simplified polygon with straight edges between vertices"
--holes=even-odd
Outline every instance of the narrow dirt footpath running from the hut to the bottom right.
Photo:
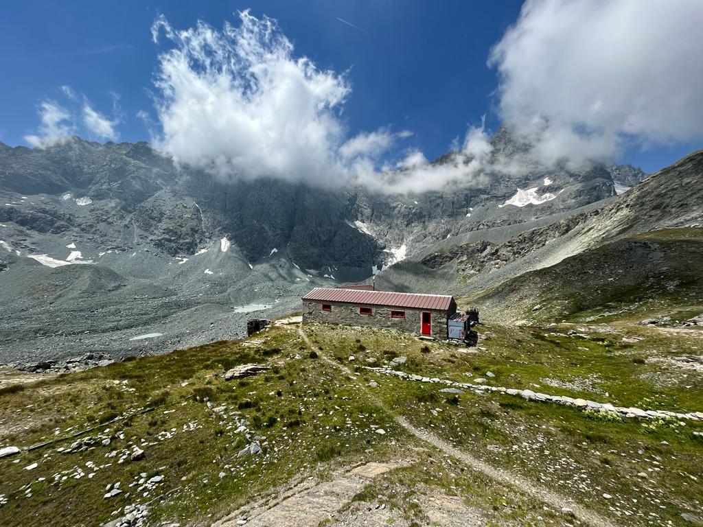
[[[307,337],[307,334],[305,334],[305,331],[302,327],[298,327],[298,332],[304,340],[305,344],[307,344],[308,348],[314,349]],[[565,495],[561,495],[559,493],[555,493],[553,490],[549,490],[548,488],[536,483],[535,481],[531,481],[525,478],[524,476],[516,474],[515,472],[497,469],[496,467],[493,467],[490,464],[479,460],[477,457],[465,453],[463,452],[463,450],[460,450],[454,447],[453,445],[447,443],[436,434],[432,434],[432,432],[430,431],[427,431],[425,429],[419,429],[418,427],[413,426],[413,424],[408,422],[407,419],[389,410],[389,408],[387,408],[381,401],[379,401],[378,398],[373,396],[373,394],[368,391],[368,388],[356,379],[356,376],[354,375],[352,370],[349,370],[349,368],[345,367],[344,365],[337,363],[335,362],[335,360],[332,360],[331,358],[328,358],[322,354],[320,356],[323,360],[325,360],[326,363],[337,367],[338,369],[342,370],[345,374],[347,374],[349,379],[352,379],[354,382],[356,382],[357,387],[361,391],[366,393],[368,398],[370,398],[370,400],[373,401],[375,405],[378,405],[380,408],[383,408],[383,410],[388,412],[388,414],[393,417],[396,423],[406,429],[406,431],[413,434],[413,436],[420,439],[420,441],[430,443],[430,445],[432,445],[434,448],[437,448],[446,455],[449,455],[455,460],[460,461],[469,469],[479,472],[480,474],[483,474],[484,476],[490,478],[493,481],[496,481],[497,483],[512,486],[513,488],[519,490],[520,492],[526,495],[529,495],[530,497],[535,498],[536,500],[541,500],[542,502],[546,503],[550,507],[553,507],[557,511],[562,511],[565,514],[573,514],[576,519],[582,521],[583,523],[586,523],[587,525],[590,525],[592,527],[615,527],[616,524],[612,523],[609,519],[596,512],[591,511],[590,509],[586,509],[586,507],[582,507],[569,497],[566,497]]]

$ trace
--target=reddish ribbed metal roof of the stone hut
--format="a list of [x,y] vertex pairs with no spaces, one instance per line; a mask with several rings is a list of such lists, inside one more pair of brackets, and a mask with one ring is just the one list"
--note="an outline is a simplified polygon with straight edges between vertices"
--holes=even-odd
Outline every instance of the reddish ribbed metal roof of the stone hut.
[[328,289],[316,287],[302,297],[303,300],[363,304],[366,306],[391,306],[416,309],[449,309],[452,297],[448,294],[396,293],[390,291],[360,291],[358,289]]

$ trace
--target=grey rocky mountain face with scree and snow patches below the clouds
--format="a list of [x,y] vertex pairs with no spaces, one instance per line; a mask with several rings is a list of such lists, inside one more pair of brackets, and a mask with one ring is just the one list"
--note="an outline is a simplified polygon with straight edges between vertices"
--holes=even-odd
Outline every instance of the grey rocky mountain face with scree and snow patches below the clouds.
[[[520,153],[505,129],[491,144],[496,164]],[[428,245],[498,232],[505,241],[593,214],[615,194],[597,164],[402,196],[221,181],[147,143],[0,145],[0,361],[110,360],[238,337],[251,316],[295,310],[309,287],[386,268],[381,284],[389,265]],[[435,285],[453,290],[452,280]]]

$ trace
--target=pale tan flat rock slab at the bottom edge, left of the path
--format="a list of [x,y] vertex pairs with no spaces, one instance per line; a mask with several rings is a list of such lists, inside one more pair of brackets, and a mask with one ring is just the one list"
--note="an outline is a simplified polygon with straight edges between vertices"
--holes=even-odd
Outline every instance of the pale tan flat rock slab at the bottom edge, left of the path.
[[318,527],[352,500],[370,481],[393,469],[395,463],[367,463],[355,469],[337,472],[330,481],[304,481],[280,495],[275,504],[249,505],[213,527],[236,527],[246,517],[247,527]]

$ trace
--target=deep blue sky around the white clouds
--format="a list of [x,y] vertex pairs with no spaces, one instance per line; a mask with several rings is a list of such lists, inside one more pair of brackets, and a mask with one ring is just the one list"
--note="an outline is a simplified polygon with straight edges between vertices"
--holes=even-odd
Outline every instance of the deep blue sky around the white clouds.
[[[167,45],[151,39],[157,15],[176,30],[197,20],[221,29],[225,20],[238,25],[236,11],[251,7],[257,18],[278,20],[295,56],[307,56],[321,70],[347,72],[352,91],[340,122],[348,136],[384,126],[409,130],[413,136],[397,148],[421,150],[431,160],[456,138],[463,141],[482,116],[488,131],[501,123],[497,68],[486,60],[521,6],[512,0],[6,3],[0,141],[26,144],[39,124],[37,105],[61,100],[60,86],[117,117],[120,141],[148,141],[148,127],[136,115],[148,112],[157,121],[153,79]],[[91,135],[80,127],[77,132]],[[697,147],[695,138],[634,141],[620,158],[655,171]]]

